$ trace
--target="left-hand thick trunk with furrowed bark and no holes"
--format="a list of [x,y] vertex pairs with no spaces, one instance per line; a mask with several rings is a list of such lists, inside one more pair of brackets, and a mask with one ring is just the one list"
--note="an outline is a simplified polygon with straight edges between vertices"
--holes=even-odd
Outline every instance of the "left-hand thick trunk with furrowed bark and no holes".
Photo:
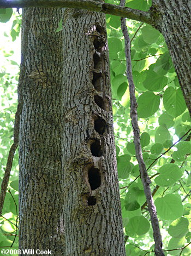
[[[22,13],[19,102],[19,246],[64,255],[62,172],[62,9]],[[20,255],[26,255],[21,253]],[[34,255],[37,255],[36,253]]]

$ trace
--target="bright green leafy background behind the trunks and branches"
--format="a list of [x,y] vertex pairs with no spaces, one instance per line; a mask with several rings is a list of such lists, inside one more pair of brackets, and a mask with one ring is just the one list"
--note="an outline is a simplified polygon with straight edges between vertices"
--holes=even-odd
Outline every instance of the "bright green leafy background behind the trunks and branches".
[[[107,2],[119,4],[119,1]],[[127,1],[126,6],[146,11],[151,6],[151,0]],[[1,27],[5,22],[11,23],[12,26],[4,33],[4,37],[7,38],[5,41],[13,41],[14,45],[18,41],[21,15],[10,9],[1,9],[0,21]],[[126,251],[128,256],[154,255],[151,252],[154,248],[153,232],[133,144],[120,18],[106,15],[106,25]],[[132,40],[133,78],[139,105],[141,146],[152,180],[151,189],[157,207],[163,247],[165,250],[172,250],[165,252],[166,255],[190,255],[191,143],[190,132],[187,132],[191,129],[191,120],[163,36],[152,26],[138,21],[127,19],[127,26]],[[5,60],[0,68],[0,177],[3,177],[8,151],[13,143],[20,60],[11,58],[14,55],[13,46],[9,50],[5,50],[2,45],[0,47],[1,57]],[[16,153],[10,177],[10,192],[7,192],[0,218],[0,247],[18,246],[18,170]],[[185,248],[177,250],[183,247]]]

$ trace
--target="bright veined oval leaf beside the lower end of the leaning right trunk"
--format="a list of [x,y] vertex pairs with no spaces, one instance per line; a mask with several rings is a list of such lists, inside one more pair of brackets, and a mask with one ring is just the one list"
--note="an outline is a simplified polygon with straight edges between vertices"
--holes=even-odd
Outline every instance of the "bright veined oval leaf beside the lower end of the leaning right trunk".
[[186,110],[186,104],[183,98],[181,88],[175,90],[169,87],[163,94],[163,104],[165,110],[173,117],[180,116]]

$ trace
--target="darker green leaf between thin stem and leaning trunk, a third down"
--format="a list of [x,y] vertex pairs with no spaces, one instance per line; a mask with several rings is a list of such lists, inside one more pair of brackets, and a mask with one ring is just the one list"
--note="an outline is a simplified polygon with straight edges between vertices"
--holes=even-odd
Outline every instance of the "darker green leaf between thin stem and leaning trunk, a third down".
[[167,83],[167,77],[158,75],[158,73],[152,70],[148,70],[143,85],[146,89],[151,90],[152,92],[160,92]]

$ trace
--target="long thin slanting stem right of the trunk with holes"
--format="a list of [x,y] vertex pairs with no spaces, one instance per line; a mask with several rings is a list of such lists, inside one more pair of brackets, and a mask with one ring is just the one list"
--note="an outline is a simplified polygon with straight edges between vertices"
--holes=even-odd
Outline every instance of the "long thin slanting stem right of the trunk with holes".
[[[126,0],[121,0],[120,5],[124,6]],[[138,114],[137,114],[137,102],[135,97],[135,86],[133,82],[133,74],[132,74],[132,62],[130,56],[130,38],[127,31],[126,19],[121,18],[121,30],[123,32],[124,41],[125,41],[125,53],[126,53],[126,62],[127,62],[127,79],[129,83],[129,94],[130,94],[130,117],[132,118],[132,126],[133,126],[133,134],[134,134],[134,145],[136,152],[136,159],[139,163],[140,175],[142,184],[144,186],[145,196],[148,204],[148,211],[151,216],[151,223],[153,228],[154,235],[154,252],[157,256],[164,256],[164,252],[162,249],[162,236],[160,234],[159,222],[157,218],[156,207],[153,202],[153,197],[151,194],[150,183],[151,180],[148,177],[145,162],[142,157],[142,149],[140,143],[140,129],[138,126]]]

